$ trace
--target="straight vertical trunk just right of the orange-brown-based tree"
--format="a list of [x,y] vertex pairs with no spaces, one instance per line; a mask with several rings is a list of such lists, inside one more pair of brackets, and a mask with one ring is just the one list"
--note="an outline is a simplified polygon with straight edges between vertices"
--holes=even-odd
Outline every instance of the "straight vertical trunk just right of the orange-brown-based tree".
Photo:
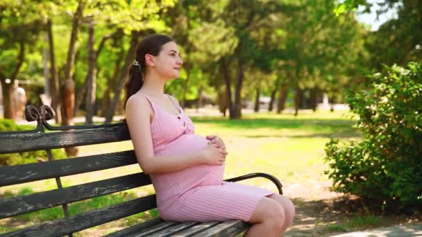
[[94,19],[91,17],[88,26],[88,73],[87,73],[87,94],[85,97],[85,123],[91,124],[92,117],[95,114],[95,91],[96,91],[96,73],[95,73],[96,53],[94,51]]

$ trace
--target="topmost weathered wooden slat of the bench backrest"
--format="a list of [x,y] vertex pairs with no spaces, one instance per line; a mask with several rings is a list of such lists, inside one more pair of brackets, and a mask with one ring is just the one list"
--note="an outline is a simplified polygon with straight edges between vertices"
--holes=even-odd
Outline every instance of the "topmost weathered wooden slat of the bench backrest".
[[90,128],[65,132],[34,134],[0,134],[0,154],[85,146],[130,140],[127,125],[117,123],[115,127]]

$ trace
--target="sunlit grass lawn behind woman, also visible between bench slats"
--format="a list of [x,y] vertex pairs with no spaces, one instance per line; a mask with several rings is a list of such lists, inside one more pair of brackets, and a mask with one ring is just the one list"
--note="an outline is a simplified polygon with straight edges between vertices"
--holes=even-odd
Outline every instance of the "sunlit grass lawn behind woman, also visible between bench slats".
[[[321,190],[317,189],[320,184],[329,184],[328,177],[323,174],[323,171],[327,168],[323,158],[325,154],[324,145],[329,141],[330,137],[343,140],[359,139],[360,137],[360,134],[354,128],[355,121],[351,119],[350,114],[345,114],[345,112],[308,112],[302,113],[296,118],[292,114],[244,114],[243,119],[237,121],[230,121],[221,117],[199,116],[192,117],[192,120],[194,121],[197,134],[203,136],[217,134],[226,143],[229,154],[226,159],[225,178],[254,172],[270,173],[280,179],[284,186],[285,195],[289,198],[296,198],[300,202],[319,200],[321,195],[325,195],[322,194],[325,191],[321,191],[323,188],[319,188]],[[133,149],[133,146],[130,141],[127,141],[83,146],[79,149],[79,155],[94,155],[103,152],[130,150]],[[73,186],[139,171],[139,166],[133,165],[62,177],[62,183],[64,186]],[[244,183],[276,191],[275,186],[266,179],[252,179]],[[316,189],[312,191],[314,186],[316,186]],[[56,188],[56,184],[51,179],[31,184],[3,187],[0,188],[0,195],[24,195],[53,188]],[[307,192],[303,192],[302,189],[304,188]],[[70,204],[69,210],[72,214],[76,214],[83,210],[112,204],[115,201],[133,199],[136,196],[152,192],[153,188],[151,186],[135,188],[132,191],[117,193],[112,198],[97,198]],[[61,215],[60,211],[48,209],[39,211],[37,215],[30,213],[17,218],[1,220],[0,226],[5,227],[0,229],[0,233],[40,221],[51,220]],[[156,215],[156,211],[143,213],[142,215],[132,216],[82,231],[76,236],[90,235],[92,231],[99,231],[99,233],[105,234],[109,231],[115,231],[119,227],[132,225],[139,218],[151,218],[151,216]]]

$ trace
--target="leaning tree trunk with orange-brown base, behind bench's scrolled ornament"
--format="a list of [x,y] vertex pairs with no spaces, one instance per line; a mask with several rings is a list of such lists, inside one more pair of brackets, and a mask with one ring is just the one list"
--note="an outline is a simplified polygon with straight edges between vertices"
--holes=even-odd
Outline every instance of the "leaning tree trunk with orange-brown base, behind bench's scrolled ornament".
[[[61,88],[62,96],[62,125],[74,125],[74,98],[75,98],[75,82],[73,80],[72,69],[75,61],[75,44],[78,37],[78,29],[83,17],[84,3],[78,1],[78,8],[74,14],[72,22],[71,36],[69,42],[69,51],[67,53],[67,61],[65,67],[65,82]],[[66,150],[69,155],[69,149]]]

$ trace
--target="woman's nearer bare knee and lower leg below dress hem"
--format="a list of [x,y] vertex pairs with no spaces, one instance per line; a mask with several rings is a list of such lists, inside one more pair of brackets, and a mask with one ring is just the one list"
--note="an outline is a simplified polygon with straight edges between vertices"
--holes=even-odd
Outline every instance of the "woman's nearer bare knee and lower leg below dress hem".
[[277,200],[262,198],[258,202],[251,219],[252,226],[244,236],[280,236],[285,223],[285,209]]

